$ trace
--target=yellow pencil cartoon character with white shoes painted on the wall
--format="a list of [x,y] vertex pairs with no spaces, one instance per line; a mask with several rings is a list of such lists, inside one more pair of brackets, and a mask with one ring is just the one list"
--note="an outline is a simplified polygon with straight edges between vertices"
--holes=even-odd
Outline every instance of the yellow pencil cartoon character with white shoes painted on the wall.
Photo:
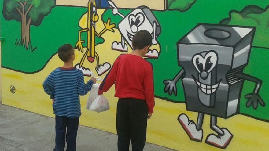
[[[87,50],[84,53],[81,61],[79,64],[76,65],[76,68],[80,69],[83,71],[83,74],[86,76],[90,76],[88,73],[90,72],[89,69],[83,67],[83,62],[87,58],[89,62],[94,62],[96,58],[96,72],[98,75],[104,74],[107,70],[110,69],[110,64],[109,63],[104,63],[103,65],[99,65],[99,56],[97,52],[95,51],[95,36],[101,37],[102,34],[104,34],[107,30],[114,32],[113,27],[115,27],[115,24],[112,23],[110,24],[110,18],[107,20],[107,23],[104,23],[105,28],[100,32],[97,33],[96,29],[96,23],[98,21],[98,14],[97,14],[97,9],[96,9],[96,2],[95,0],[89,0],[88,2],[88,12],[87,12],[87,23],[80,25],[82,28],[79,30],[79,39],[76,43],[75,48],[78,48],[79,51],[83,52],[83,45],[82,43],[84,40],[81,40],[81,33],[82,32],[87,32]],[[83,28],[83,27],[86,28]]]

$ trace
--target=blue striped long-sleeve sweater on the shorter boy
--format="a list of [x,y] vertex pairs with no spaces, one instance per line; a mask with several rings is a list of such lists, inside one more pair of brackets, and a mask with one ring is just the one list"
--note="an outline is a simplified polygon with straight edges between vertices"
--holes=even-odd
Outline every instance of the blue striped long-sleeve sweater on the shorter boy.
[[43,83],[44,91],[54,99],[53,111],[58,116],[81,115],[79,95],[86,95],[94,82],[84,83],[81,70],[56,68]]

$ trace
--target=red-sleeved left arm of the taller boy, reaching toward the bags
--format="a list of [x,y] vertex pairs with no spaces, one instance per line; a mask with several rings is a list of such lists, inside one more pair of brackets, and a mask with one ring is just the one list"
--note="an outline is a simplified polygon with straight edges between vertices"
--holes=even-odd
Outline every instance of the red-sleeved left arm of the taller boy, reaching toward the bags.
[[118,69],[118,59],[115,60],[111,70],[105,76],[104,80],[99,86],[98,95],[103,94],[103,92],[107,92],[109,88],[115,83]]

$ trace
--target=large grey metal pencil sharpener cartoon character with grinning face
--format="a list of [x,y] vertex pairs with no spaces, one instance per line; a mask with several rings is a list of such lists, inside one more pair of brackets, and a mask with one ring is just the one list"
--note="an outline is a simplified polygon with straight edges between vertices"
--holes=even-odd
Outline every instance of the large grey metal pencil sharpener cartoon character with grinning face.
[[[217,126],[217,117],[227,119],[239,113],[239,102],[245,80],[256,83],[246,94],[246,106],[265,106],[259,95],[262,81],[243,73],[248,65],[256,27],[199,23],[177,43],[178,65],[182,67],[173,80],[164,80],[164,92],[177,95],[181,78],[186,110],[198,112],[197,125],[186,114],[178,121],[191,140],[202,142],[204,114],[211,116],[205,143],[225,149],[233,134]],[[221,69],[221,70],[220,70]],[[194,93],[196,92],[196,93]]]

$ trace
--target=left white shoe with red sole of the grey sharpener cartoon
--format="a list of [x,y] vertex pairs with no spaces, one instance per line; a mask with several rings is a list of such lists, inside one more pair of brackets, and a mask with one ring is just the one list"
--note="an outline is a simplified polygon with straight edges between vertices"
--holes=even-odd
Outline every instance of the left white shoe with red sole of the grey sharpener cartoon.
[[178,121],[181,124],[182,128],[187,132],[189,138],[193,141],[202,142],[203,139],[203,129],[197,130],[196,124],[189,120],[186,114],[180,114]]

